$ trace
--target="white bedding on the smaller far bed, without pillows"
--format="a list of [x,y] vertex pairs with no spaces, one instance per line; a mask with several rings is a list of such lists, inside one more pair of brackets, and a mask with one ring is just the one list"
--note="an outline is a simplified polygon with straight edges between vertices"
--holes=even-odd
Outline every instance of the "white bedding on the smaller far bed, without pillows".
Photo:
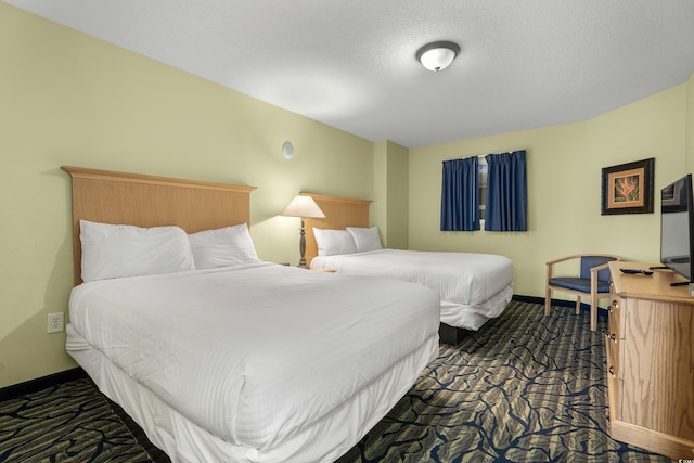
[[439,294],[441,322],[466,330],[499,317],[513,297],[512,262],[496,254],[380,249],[318,256],[311,267],[427,286]]

